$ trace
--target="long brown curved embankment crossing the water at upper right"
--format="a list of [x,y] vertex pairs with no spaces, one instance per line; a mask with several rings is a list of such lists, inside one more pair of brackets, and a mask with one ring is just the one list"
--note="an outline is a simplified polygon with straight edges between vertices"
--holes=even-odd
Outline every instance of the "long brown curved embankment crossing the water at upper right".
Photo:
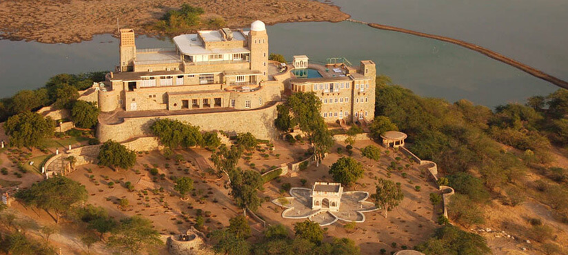
[[381,25],[381,24],[377,24],[377,23],[367,23],[367,22],[363,22],[363,21],[357,21],[357,20],[354,20],[354,19],[347,19],[347,21],[365,24],[365,25],[370,26],[372,28],[377,28],[377,29],[382,29],[382,30],[390,30],[390,31],[395,31],[395,32],[403,32],[405,34],[413,34],[413,35],[416,35],[418,37],[426,37],[426,38],[429,38],[429,39],[436,39],[436,40],[440,40],[440,41],[447,41],[448,43],[454,43],[456,45],[460,45],[462,47],[468,48],[469,50],[475,50],[476,52],[484,54],[485,56],[490,57],[491,59],[496,59],[498,61],[506,63],[507,65],[511,65],[514,68],[518,68],[519,70],[522,70],[523,72],[527,72],[528,74],[531,74],[532,76],[535,76],[539,79],[543,79],[545,81],[548,81],[549,83],[557,85],[558,87],[568,89],[568,82],[567,81],[564,81],[562,79],[558,79],[555,76],[552,76],[550,74],[542,72],[542,71],[540,71],[536,68],[532,68],[529,65],[525,65],[524,63],[520,63],[519,61],[516,61],[516,60],[511,59],[509,57],[505,57],[502,54],[499,54],[499,53],[494,52],[492,50],[489,50],[487,48],[483,48],[479,45],[475,45],[474,43],[468,43],[467,41],[461,41],[461,40],[453,39],[453,38],[449,38],[449,37],[442,37],[442,36],[435,35],[435,34],[426,34],[426,33],[417,32],[417,31],[414,31],[414,30],[407,30],[407,29],[404,29],[404,28],[396,28],[396,27],[393,27],[393,26],[386,26],[386,25]]

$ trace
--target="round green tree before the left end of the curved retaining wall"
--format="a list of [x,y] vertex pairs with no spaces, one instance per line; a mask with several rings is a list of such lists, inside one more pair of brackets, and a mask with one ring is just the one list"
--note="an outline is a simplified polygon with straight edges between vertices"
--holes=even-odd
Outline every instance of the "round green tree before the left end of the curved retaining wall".
[[128,150],[124,145],[115,141],[105,141],[99,152],[99,165],[126,169],[136,163],[136,152]]

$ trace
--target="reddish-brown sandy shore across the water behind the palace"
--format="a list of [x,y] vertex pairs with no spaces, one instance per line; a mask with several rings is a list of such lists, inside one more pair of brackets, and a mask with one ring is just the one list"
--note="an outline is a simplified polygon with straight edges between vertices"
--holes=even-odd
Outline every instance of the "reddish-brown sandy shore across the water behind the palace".
[[6,0],[0,1],[0,39],[75,43],[94,34],[116,34],[117,18],[121,28],[156,34],[148,24],[182,3],[203,8],[205,17],[222,16],[230,28],[247,27],[256,19],[274,24],[349,18],[336,6],[311,0]]

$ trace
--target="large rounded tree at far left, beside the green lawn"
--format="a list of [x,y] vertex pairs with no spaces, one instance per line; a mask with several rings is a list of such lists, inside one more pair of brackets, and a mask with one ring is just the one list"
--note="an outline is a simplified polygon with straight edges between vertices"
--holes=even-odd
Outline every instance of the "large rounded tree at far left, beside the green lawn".
[[43,118],[35,112],[16,114],[4,123],[4,132],[10,136],[10,145],[17,147],[39,146],[53,131],[54,123],[51,118]]

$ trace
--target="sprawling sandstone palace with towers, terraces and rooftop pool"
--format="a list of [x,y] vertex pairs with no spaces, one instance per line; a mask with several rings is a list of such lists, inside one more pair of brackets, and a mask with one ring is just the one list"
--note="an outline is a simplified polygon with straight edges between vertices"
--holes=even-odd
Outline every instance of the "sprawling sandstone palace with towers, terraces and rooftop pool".
[[326,122],[368,123],[374,117],[376,66],[343,58],[290,64],[269,61],[262,21],[250,30],[199,31],[173,38],[174,48],[136,48],[134,30],[120,30],[120,62],[88,97],[101,108],[97,136],[125,141],[148,135],[148,122],[168,118],[203,130],[276,136],[276,105],[294,92],[315,92]]

